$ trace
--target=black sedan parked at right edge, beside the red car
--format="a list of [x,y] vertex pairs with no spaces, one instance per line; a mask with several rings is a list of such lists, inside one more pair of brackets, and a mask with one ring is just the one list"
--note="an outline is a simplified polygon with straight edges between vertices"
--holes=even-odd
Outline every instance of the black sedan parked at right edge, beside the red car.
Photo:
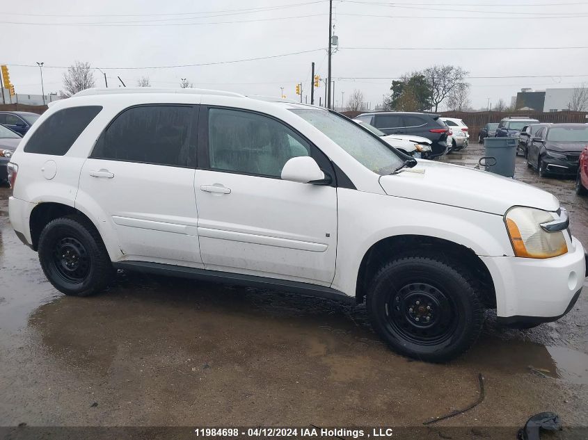
[[575,176],[588,144],[588,124],[551,124],[537,133],[527,150],[527,165],[548,174]]

